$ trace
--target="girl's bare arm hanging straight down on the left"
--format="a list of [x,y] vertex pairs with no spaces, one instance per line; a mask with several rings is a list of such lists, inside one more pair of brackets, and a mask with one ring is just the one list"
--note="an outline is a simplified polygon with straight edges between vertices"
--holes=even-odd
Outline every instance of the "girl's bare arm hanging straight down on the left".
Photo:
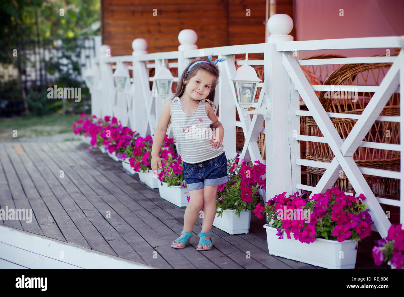
[[168,123],[170,122],[171,102],[173,102],[173,100],[164,103],[153,137],[153,145],[151,146],[151,169],[155,174],[158,174],[158,168],[162,168],[161,159],[158,154],[163,144],[164,137],[166,136]]

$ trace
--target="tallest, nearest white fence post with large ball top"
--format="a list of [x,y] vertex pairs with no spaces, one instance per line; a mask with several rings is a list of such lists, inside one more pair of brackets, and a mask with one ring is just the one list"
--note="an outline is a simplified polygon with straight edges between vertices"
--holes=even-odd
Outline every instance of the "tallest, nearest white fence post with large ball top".
[[[275,17],[275,18],[274,18]],[[272,19],[274,18],[274,19]],[[275,21],[275,22],[274,22]],[[276,51],[276,42],[293,41],[288,35],[293,21],[288,15],[274,15],[268,20],[267,50],[265,51],[265,90],[271,99],[271,117],[265,120],[267,199],[287,192],[296,192],[300,183],[299,94],[282,65],[282,51]]]

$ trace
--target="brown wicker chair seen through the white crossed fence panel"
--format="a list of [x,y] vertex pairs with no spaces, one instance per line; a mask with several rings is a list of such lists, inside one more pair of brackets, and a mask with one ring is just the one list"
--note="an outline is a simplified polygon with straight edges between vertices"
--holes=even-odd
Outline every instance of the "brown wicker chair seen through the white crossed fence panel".
[[[394,55],[398,55],[398,53]],[[378,55],[374,55],[372,57],[376,56]],[[388,69],[390,66],[391,63],[344,64],[337,70],[333,71],[330,76],[328,76],[328,78],[324,81],[324,85],[361,85],[358,84],[358,80],[362,78],[364,85],[378,86],[384,77],[385,68]],[[375,72],[377,73],[375,74]],[[381,76],[381,73],[383,73],[383,76]],[[371,81],[372,78],[374,79],[373,82]],[[325,92],[321,91],[319,100],[324,106],[326,112],[362,114],[373,94],[374,92],[358,92],[358,95],[356,95],[355,99],[353,100],[350,98],[350,96],[343,96],[348,98],[334,98],[333,96],[327,96],[328,98],[326,98]],[[399,93],[393,93],[389,99],[389,102],[383,108],[380,114],[381,116],[400,115],[399,95]],[[356,119],[346,118],[330,118],[330,120],[342,139],[346,139],[347,135],[352,130],[353,125],[357,121]],[[387,130],[390,131],[391,137],[385,137]],[[319,137],[323,136],[312,117],[307,117],[305,119],[305,135]],[[365,136],[364,141],[399,144],[400,124],[397,122],[384,122],[377,120]],[[331,162],[331,160],[334,158],[334,154],[330,150],[327,143],[308,142],[306,147],[306,158],[308,160]],[[353,154],[353,159],[358,166],[400,171],[400,152],[358,147],[356,152]],[[315,186],[324,172],[325,169],[307,166],[307,185]],[[364,175],[364,178],[374,192],[375,196],[396,199],[399,198],[399,180],[372,175]],[[348,181],[343,172],[341,172],[334,186],[339,187],[345,192],[355,192],[351,183]]]

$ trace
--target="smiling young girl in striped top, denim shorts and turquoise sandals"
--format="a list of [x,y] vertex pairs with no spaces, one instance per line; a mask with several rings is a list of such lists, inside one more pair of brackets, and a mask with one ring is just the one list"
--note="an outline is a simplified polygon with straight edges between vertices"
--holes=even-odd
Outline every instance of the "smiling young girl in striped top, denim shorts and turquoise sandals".
[[[183,249],[189,244],[192,229],[203,206],[202,232],[197,251],[212,249],[210,238],[216,215],[217,186],[229,181],[227,158],[222,145],[224,129],[213,110],[215,88],[219,78],[217,62],[192,61],[185,68],[172,100],[164,103],[153,138],[151,169],[158,174],[162,168],[158,156],[168,123],[177,140],[183,161],[184,179],[189,190],[189,204],[184,214],[184,229],[171,246]],[[213,143],[213,145],[212,145]]]

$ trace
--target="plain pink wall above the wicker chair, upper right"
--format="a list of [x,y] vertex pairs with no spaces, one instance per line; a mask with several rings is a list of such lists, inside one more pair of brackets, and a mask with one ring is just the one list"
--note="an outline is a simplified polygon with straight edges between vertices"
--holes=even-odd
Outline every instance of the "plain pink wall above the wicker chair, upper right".
[[[294,0],[294,9],[294,40],[404,35],[404,0]],[[393,48],[390,51],[395,53]],[[385,54],[386,48],[305,51],[299,57],[325,53],[364,57]]]

